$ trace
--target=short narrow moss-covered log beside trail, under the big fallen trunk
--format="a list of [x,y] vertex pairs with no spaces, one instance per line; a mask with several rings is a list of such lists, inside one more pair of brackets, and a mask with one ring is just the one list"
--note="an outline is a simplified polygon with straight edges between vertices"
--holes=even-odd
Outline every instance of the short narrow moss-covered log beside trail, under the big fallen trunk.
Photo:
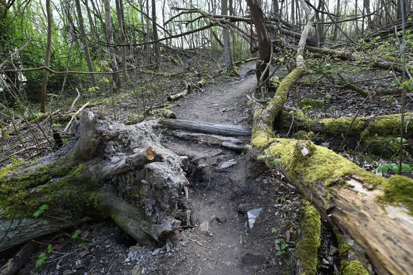
[[301,205],[301,232],[304,238],[297,242],[296,257],[304,267],[302,274],[317,273],[317,250],[320,247],[321,220],[317,209],[307,200]]

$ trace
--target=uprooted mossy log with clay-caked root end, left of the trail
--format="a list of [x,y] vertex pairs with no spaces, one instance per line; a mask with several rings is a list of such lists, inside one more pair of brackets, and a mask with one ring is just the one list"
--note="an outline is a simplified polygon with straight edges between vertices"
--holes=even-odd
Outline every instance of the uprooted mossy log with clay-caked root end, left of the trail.
[[[187,180],[155,127],[156,120],[126,126],[83,111],[67,146],[0,170],[0,252],[94,218],[111,217],[150,246],[178,228],[174,215]],[[48,209],[33,218],[43,204]]]

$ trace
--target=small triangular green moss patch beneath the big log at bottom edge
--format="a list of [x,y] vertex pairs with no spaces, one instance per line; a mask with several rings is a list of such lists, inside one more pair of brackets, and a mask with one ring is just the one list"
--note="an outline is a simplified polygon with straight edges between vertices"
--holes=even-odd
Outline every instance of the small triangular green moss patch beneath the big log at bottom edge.
[[[345,243],[342,237],[336,233],[338,242],[338,254],[341,259],[340,275],[368,275],[368,271],[361,264],[355,253]],[[346,259],[355,259],[348,261]]]

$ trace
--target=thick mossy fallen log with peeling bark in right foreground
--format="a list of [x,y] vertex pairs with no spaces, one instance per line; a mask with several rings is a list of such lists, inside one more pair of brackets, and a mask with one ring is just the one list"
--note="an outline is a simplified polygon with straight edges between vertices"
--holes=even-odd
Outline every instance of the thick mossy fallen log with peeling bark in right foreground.
[[[255,102],[252,108],[262,112]],[[372,174],[311,141],[275,138],[272,123],[264,129],[259,123],[254,115],[251,144],[281,160],[275,169],[329,221],[369,273],[413,273],[413,180]]]

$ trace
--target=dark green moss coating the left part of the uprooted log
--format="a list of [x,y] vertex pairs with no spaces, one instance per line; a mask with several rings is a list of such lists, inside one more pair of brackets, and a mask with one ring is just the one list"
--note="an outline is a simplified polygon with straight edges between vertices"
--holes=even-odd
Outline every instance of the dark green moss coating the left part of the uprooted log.
[[83,212],[91,207],[100,208],[95,193],[99,188],[97,181],[88,176],[84,165],[77,165],[73,160],[58,160],[24,169],[25,172],[18,173],[10,168],[1,170],[2,215],[11,217],[16,213],[31,217],[42,204],[49,205],[51,216],[60,216],[71,209]]

